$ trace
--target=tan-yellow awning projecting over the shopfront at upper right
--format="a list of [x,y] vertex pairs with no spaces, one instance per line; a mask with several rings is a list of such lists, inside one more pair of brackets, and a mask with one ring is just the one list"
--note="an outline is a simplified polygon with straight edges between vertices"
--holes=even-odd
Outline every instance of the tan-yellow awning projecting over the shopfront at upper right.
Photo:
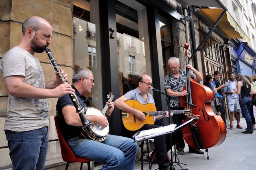
[[[200,13],[203,13],[213,23],[217,21],[219,15],[221,15],[222,12],[223,9],[200,9]],[[222,32],[224,32],[227,37],[234,39],[244,39],[249,45],[251,44],[250,39],[247,37],[245,32],[243,32],[243,30],[236,23],[228,11],[226,11],[223,17],[221,17],[217,27]]]

